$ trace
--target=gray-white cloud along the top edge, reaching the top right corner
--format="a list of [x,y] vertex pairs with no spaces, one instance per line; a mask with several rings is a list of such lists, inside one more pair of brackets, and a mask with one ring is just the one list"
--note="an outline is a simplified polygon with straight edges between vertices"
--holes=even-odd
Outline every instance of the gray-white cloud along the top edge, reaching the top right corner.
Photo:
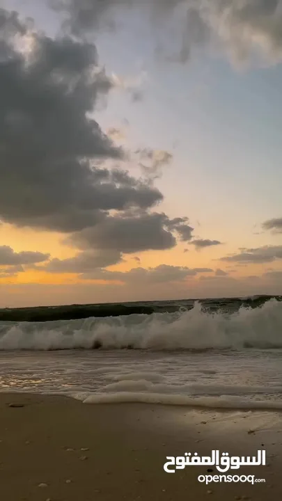
[[[168,26],[178,23],[178,50],[171,61],[186,63],[196,47],[220,47],[236,62],[254,54],[269,61],[282,59],[281,0],[49,0],[65,13],[66,25],[75,35],[114,24],[119,9],[138,8],[137,15],[150,12],[152,24],[162,26],[167,50]],[[124,17],[123,17],[124,18]],[[147,21],[147,17],[145,18]],[[147,21],[148,22],[148,21]],[[171,24],[169,24],[171,22]],[[156,30],[157,31],[157,30]],[[159,31],[159,30],[158,30]],[[166,35],[166,36],[165,36]],[[157,37],[156,37],[157,38]],[[175,47],[175,40],[171,47]]]

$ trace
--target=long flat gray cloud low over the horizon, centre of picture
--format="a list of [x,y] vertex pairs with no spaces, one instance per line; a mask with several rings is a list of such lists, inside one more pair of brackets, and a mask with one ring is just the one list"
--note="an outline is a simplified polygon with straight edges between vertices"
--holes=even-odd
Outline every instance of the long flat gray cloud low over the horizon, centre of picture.
[[[204,271],[206,271],[204,269]],[[212,270],[207,270],[212,271]],[[97,270],[94,273],[86,273],[81,276],[85,280],[107,280],[118,281],[127,284],[142,283],[167,283],[182,282],[189,277],[194,277],[200,273],[200,269],[190,269],[187,267],[175,267],[167,264],[160,264],[158,267],[144,269],[133,268],[130,271],[107,271]]]

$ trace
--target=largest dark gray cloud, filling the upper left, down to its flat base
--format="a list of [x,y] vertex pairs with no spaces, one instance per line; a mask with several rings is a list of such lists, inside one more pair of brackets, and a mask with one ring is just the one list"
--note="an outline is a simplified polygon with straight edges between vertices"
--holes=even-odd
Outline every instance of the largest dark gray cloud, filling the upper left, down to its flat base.
[[[15,45],[13,35],[18,35]],[[24,38],[31,50],[24,53]],[[109,210],[147,209],[152,186],[97,161],[122,159],[89,113],[112,81],[95,45],[31,33],[0,9],[0,218],[61,232],[87,228]]]

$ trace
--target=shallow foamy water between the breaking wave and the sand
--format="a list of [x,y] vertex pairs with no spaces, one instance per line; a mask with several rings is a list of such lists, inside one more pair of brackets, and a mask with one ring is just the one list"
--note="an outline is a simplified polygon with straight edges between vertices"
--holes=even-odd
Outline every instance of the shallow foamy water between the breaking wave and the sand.
[[2,351],[0,390],[86,403],[210,408],[282,405],[281,351]]

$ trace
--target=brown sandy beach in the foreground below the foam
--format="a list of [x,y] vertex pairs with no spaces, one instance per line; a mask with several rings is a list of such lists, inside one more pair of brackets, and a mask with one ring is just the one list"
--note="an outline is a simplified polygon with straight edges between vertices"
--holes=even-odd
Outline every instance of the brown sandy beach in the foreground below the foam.
[[[64,397],[1,394],[0,499],[281,501],[281,431],[277,413],[86,405]],[[262,448],[267,466],[242,467],[239,475],[256,475],[265,484],[207,486],[198,482],[198,475],[211,474],[203,466],[171,475],[163,469],[166,456],[210,455],[214,449],[249,456]],[[213,469],[212,475],[220,475]]]

